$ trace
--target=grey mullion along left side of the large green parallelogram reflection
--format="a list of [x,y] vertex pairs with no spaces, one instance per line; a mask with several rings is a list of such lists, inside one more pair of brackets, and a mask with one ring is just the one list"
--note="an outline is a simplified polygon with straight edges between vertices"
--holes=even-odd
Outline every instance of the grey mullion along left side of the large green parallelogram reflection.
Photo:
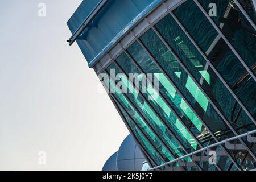
[[[176,89],[177,93],[180,94],[180,96],[183,98],[183,100],[186,102],[186,104],[189,106],[189,108],[193,111],[193,113],[195,113],[196,117],[200,119],[200,121],[203,123],[204,127],[209,131],[209,133],[212,135],[212,137],[214,138],[214,140],[216,142],[219,142],[218,139],[216,138],[216,136],[213,134],[213,132],[209,129],[209,127],[207,126],[207,124],[203,121],[203,119],[199,116],[199,114],[196,113],[195,109],[193,109],[193,107],[191,106],[191,104],[189,104],[188,100],[184,97],[184,94],[181,93],[180,89],[177,87],[177,85],[174,83],[174,81],[171,80],[171,78],[167,75],[166,71],[164,71],[164,69],[162,68],[161,65],[158,64],[158,62],[155,60],[155,58],[151,55],[151,53],[148,51],[148,49],[144,46],[144,44],[141,42],[141,40],[139,40],[135,35],[134,35],[135,39],[137,39],[138,43],[143,47],[143,49],[147,52],[148,56],[150,56],[150,58],[154,61],[154,63],[156,64],[156,66],[160,69],[160,71],[162,71],[164,73],[164,76],[167,77],[168,81],[171,82],[172,86],[174,86],[174,88]],[[221,145],[222,146],[222,145]],[[225,147],[222,146],[222,150],[224,150],[226,152],[226,154],[229,156],[230,160],[232,160],[232,162],[234,163],[234,165],[241,170],[241,168],[238,166],[238,164],[234,161],[234,159],[232,158],[232,156],[230,156],[229,152],[226,151]]]

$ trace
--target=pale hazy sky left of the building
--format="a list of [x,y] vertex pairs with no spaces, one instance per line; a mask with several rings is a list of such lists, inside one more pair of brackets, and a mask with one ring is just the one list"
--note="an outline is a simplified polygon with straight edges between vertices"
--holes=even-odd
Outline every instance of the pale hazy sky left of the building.
[[80,3],[0,0],[1,170],[101,170],[129,134],[77,44],[65,42]]

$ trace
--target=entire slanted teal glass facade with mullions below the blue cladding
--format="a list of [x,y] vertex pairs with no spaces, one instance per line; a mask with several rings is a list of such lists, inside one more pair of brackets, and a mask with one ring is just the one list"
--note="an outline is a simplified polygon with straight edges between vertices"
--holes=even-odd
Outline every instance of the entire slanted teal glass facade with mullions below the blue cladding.
[[[255,23],[251,4],[238,2]],[[210,3],[216,16],[204,14]],[[255,130],[256,30],[233,1],[185,1],[100,67],[102,84],[152,167]],[[187,157],[194,165],[183,169],[255,168],[254,144],[246,137],[234,143],[244,148],[219,144],[211,149],[225,155],[215,165]]]

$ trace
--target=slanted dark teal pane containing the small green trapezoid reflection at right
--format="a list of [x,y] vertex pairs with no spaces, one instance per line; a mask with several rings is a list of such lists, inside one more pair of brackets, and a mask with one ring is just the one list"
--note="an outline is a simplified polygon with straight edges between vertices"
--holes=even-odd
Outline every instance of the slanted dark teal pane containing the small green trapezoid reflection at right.
[[[237,109],[240,108],[239,106],[236,107],[236,112],[232,113],[233,105],[236,101],[175,22],[174,18],[169,14],[160,20],[155,27],[166,42],[171,45],[173,51],[180,57],[180,60],[188,68],[189,72],[192,73],[197,82],[199,82],[221,113],[234,125],[237,132],[242,132],[240,129],[242,126],[247,127],[247,130],[253,130],[254,124],[247,117],[245,111],[242,110],[240,113],[237,113]],[[203,93],[197,90],[191,78],[188,79],[186,88],[189,89],[193,97],[201,98],[199,104],[206,111],[208,101]],[[238,118],[235,119],[237,114]]]

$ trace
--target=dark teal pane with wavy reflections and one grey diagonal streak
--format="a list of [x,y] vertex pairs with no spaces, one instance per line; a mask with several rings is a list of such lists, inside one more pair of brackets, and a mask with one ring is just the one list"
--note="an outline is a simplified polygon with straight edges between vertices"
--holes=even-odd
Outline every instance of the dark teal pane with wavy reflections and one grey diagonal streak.
[[[207,55],[220,75],[233,89],[243,105],[256,118],[255,81],[247,74],[246,69],[234,53],[230,51],[220,35],[217,34],[217,31],[209,23],[199,7],[193,1],[186,1],[174,10],[174,14],[199,47],[205,52],[205,55]],[[241,46],[240,44],[240,47],[245,46],[243,44]],[[251,53],[253,52],[255,52],[255,48]],[[253,53],[253,56],[255,56],[255,53]],[[208,73],[212,75],[210,70],[208,70]],[[214,82],[212,84],[215,85]]]

